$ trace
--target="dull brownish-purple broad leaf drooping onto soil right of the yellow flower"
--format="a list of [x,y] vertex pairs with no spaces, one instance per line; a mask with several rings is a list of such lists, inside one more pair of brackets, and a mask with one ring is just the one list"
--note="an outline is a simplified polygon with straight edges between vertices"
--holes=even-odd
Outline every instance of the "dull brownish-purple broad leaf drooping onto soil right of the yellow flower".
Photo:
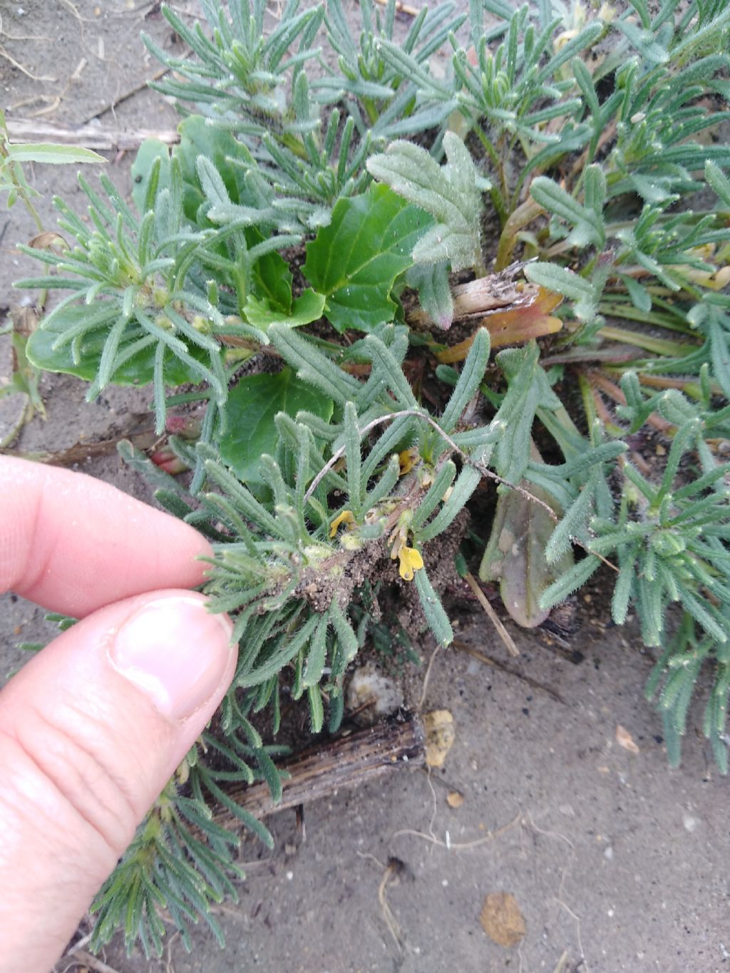
[[[555,505],[550,494],[522,481],[538,500]],[[539,503],[517,490],[502,493],[496,503],[492,535],[479,568],[482,581],[498,581],[499,594],[512,618],[527,629],[540,625],[550,614],[541,608],[543,592],[572,567],[568,551],[557,563],[548,564],[545,545],[555,521]]]

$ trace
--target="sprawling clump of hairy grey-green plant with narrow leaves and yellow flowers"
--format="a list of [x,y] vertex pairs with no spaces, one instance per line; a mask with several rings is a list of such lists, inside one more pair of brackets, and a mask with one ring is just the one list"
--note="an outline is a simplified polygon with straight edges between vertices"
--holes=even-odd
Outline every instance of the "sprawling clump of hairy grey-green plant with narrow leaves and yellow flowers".
[[285,686],[337,729],[393,586],[448,645],[470,516],[519,624],[601,568],[616,623],[668,644],[647,693],[673,762],[705,667],[726,771],[730,10],[678,7],[473,0],[399,33],[394,0],[363,0],[358,36],[339,0],[291,0],[270,31],[263,0],[201,0],[193,27],[163,7],[191,52],[146,42],[180,142],[141,147],[131,203],[104,180],[82,181],[89,222],[56,200],[75,242],[26,250],[49,270],[21,284],[67,295],[27,354],[90,397],[151,384],[161,432],[202,405],[198,442],[169,439],[189,482],[122,451],[210,538],[240,650],[222,734],[106,883],[95,945],[122,925],[159,952],[163,907],[185,929],[235,894],[210,809],[270,840],[226,789],[280,792],[259,714],[275,734]]

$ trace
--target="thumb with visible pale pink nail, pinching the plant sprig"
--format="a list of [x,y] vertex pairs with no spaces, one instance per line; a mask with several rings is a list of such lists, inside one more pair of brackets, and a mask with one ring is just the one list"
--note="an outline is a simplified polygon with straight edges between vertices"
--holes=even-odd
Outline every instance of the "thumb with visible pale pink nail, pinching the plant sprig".
[[109,605],[0,693],[0,973],[45,973],[231,682],[202,595]]

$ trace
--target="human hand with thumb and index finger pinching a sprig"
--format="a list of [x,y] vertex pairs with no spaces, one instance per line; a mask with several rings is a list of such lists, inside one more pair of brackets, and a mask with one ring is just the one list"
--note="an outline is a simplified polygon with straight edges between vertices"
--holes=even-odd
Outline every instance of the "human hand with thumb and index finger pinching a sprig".
[[0,592],[79,621],[0,692],[0,973],[47,973],[233,678],[187,524],[0,457]]

